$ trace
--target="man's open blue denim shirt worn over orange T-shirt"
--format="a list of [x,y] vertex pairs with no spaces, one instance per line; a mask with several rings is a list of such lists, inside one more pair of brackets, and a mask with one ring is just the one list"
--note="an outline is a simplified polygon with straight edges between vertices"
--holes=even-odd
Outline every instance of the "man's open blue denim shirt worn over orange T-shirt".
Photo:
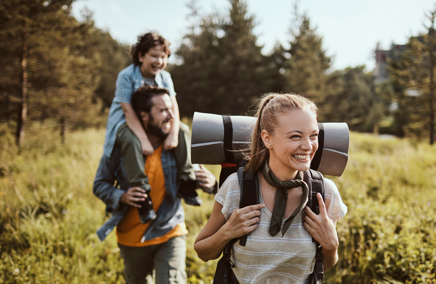
[[[106,214],[112,214],[112,217],[97,230],[100,241],[118,225],[130,208],[129,205],[119,202],[123,193],[130,188],[120,152],[119,146],[116,145],[110,157],[103,154],[95,174],[93,192],[106,203]],[[144,232],[142,242],[163,236],[177,224],[185,221],[181,199],[177,196],[177,163],[173,151],[162,151],[161,159],[167,195],[156,212],[157,218]],[[117,187],[114,187],[115,182]]]

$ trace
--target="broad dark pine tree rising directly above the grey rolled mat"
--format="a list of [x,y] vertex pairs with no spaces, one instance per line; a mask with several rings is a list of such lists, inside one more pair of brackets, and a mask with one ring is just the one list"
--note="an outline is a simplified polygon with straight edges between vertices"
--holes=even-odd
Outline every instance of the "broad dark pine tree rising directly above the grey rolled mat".
[[194,111],[244,114],[259,94],[268,91],[262,76],[262,47],[253,33],[254,17],[248,17],[244,1],[229,2],[227,16],[201,17],[177,50],[184,63],[171,74],[182,115],[192,116]]

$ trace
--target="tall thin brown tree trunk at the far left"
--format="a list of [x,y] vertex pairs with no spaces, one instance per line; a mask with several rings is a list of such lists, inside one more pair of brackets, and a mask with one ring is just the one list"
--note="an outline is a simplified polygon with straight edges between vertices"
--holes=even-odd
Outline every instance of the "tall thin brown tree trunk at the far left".
[[21,56],[21,102],[18,109],[17,132],[15,142],[20,146],[20,140],[24,139],[24,126],[27,117],[27,31],[26,21],[23,23],[23,53]]

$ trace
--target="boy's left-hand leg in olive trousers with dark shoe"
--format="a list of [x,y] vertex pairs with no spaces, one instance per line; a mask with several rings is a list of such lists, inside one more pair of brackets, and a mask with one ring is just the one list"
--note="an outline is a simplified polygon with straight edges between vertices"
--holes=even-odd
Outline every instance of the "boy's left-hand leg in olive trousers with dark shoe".
[[[148,177],[145,174],[145,161],[140,140],[132,130],[127,127],[126,123],[119,127],[116,133],[116,139],[117,143],[121,145],[121,154],[123,155],[130,187],[141,187],[148,194],[151,187]],[[141,208],[138,208],[141,223],[145,224],[156,218],[150,195],[145,201],[138,204],[141,205]]]

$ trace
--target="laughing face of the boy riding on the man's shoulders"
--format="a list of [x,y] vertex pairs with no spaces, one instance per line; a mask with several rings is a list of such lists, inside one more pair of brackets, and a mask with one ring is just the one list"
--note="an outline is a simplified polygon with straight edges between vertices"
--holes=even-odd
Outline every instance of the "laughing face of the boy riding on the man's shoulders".
[[142,76],[151,78],[167,67],[168,54],[165,53],[163,45],[157,45],[150,48],[144,55],[139,53],[139,62]]

